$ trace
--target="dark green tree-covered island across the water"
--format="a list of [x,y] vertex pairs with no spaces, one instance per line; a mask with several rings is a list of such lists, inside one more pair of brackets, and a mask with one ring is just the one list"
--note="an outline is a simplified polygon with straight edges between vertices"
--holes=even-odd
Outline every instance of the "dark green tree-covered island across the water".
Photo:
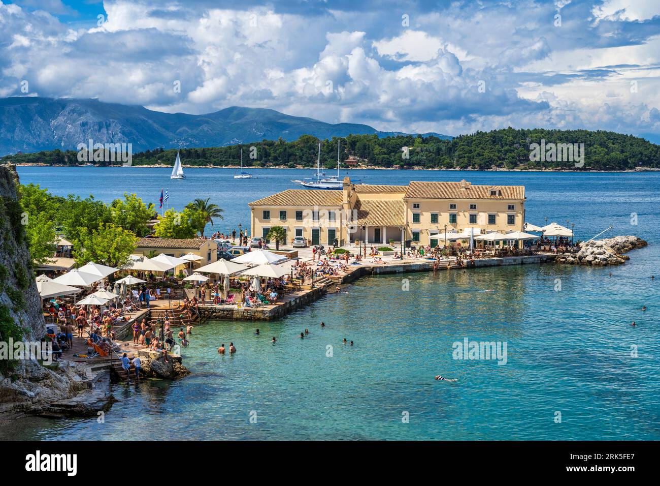
[[[544,142],[545,141],[545,142]],[[597,170],[625,171],[660,168],[660,145],[643,138],[602,130],[515,130],[461,135],[453,140],[435,136],[399,135],[378,138],[376,135],[349,135],[319,140],[303,135],[294,142],[262,142],[180,149],[186,167],[236,167],[243,153],[244,167],[315,167],[317,144],[321,142],[321,164],[337,167],[339,158],[352,160],[351,167],[388,169],[475,169],[475,170]],[[583,144],[583,165],[572,160],[530,160],[531,145]],[[576,147],[577,149],[577,147]],[[133,166],[174,165],[176,149],[156,148],[133,154]],[[75,150],[40,151],[6,155],[2,161],[16,165],[84,165]],[[121,165],[95,162],[94,165]]]

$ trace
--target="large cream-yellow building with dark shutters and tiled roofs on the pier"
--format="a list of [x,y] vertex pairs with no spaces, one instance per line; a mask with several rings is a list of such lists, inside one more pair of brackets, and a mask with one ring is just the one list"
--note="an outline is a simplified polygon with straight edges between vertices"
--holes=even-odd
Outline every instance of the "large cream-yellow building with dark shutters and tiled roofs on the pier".
[[412,181],[407,186],[352,184],[343,189],[288,189],[249,203],[252,236],[273,226],[286,231],[286,244],[303,236],[312,245],[354,241],[387,244],[411,240],[436,245],[430,235],[464,231],[523,231],[524,186]]

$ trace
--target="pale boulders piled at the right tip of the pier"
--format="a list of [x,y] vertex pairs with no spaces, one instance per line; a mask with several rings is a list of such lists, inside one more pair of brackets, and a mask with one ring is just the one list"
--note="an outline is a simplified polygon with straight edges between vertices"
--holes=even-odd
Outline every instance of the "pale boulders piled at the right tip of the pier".
[[601,240],[583,243],[576,255],[558,255],[557,263],[577,265],[620,265],[628,260],[624,253],[648,245],[646,241],[636,236],[615,236]]

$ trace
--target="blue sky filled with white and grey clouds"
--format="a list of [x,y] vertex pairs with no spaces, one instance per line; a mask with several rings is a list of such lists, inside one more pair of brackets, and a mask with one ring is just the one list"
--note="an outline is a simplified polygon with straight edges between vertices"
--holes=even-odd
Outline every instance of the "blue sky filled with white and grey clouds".
[[660,140],[657,0],[0,0],[0,31],[1,97]]

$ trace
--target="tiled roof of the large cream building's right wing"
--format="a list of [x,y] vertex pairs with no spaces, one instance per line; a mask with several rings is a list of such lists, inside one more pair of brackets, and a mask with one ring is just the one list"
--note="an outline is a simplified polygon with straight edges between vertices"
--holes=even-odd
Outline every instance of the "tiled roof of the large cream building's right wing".
[[[464,186],[465,189],[461,189]],[[496,196],[490,190],[496,190]],[[469,182],[411,181],[406,198],[419,199],[524,199],[525,186],[475,186]]]

